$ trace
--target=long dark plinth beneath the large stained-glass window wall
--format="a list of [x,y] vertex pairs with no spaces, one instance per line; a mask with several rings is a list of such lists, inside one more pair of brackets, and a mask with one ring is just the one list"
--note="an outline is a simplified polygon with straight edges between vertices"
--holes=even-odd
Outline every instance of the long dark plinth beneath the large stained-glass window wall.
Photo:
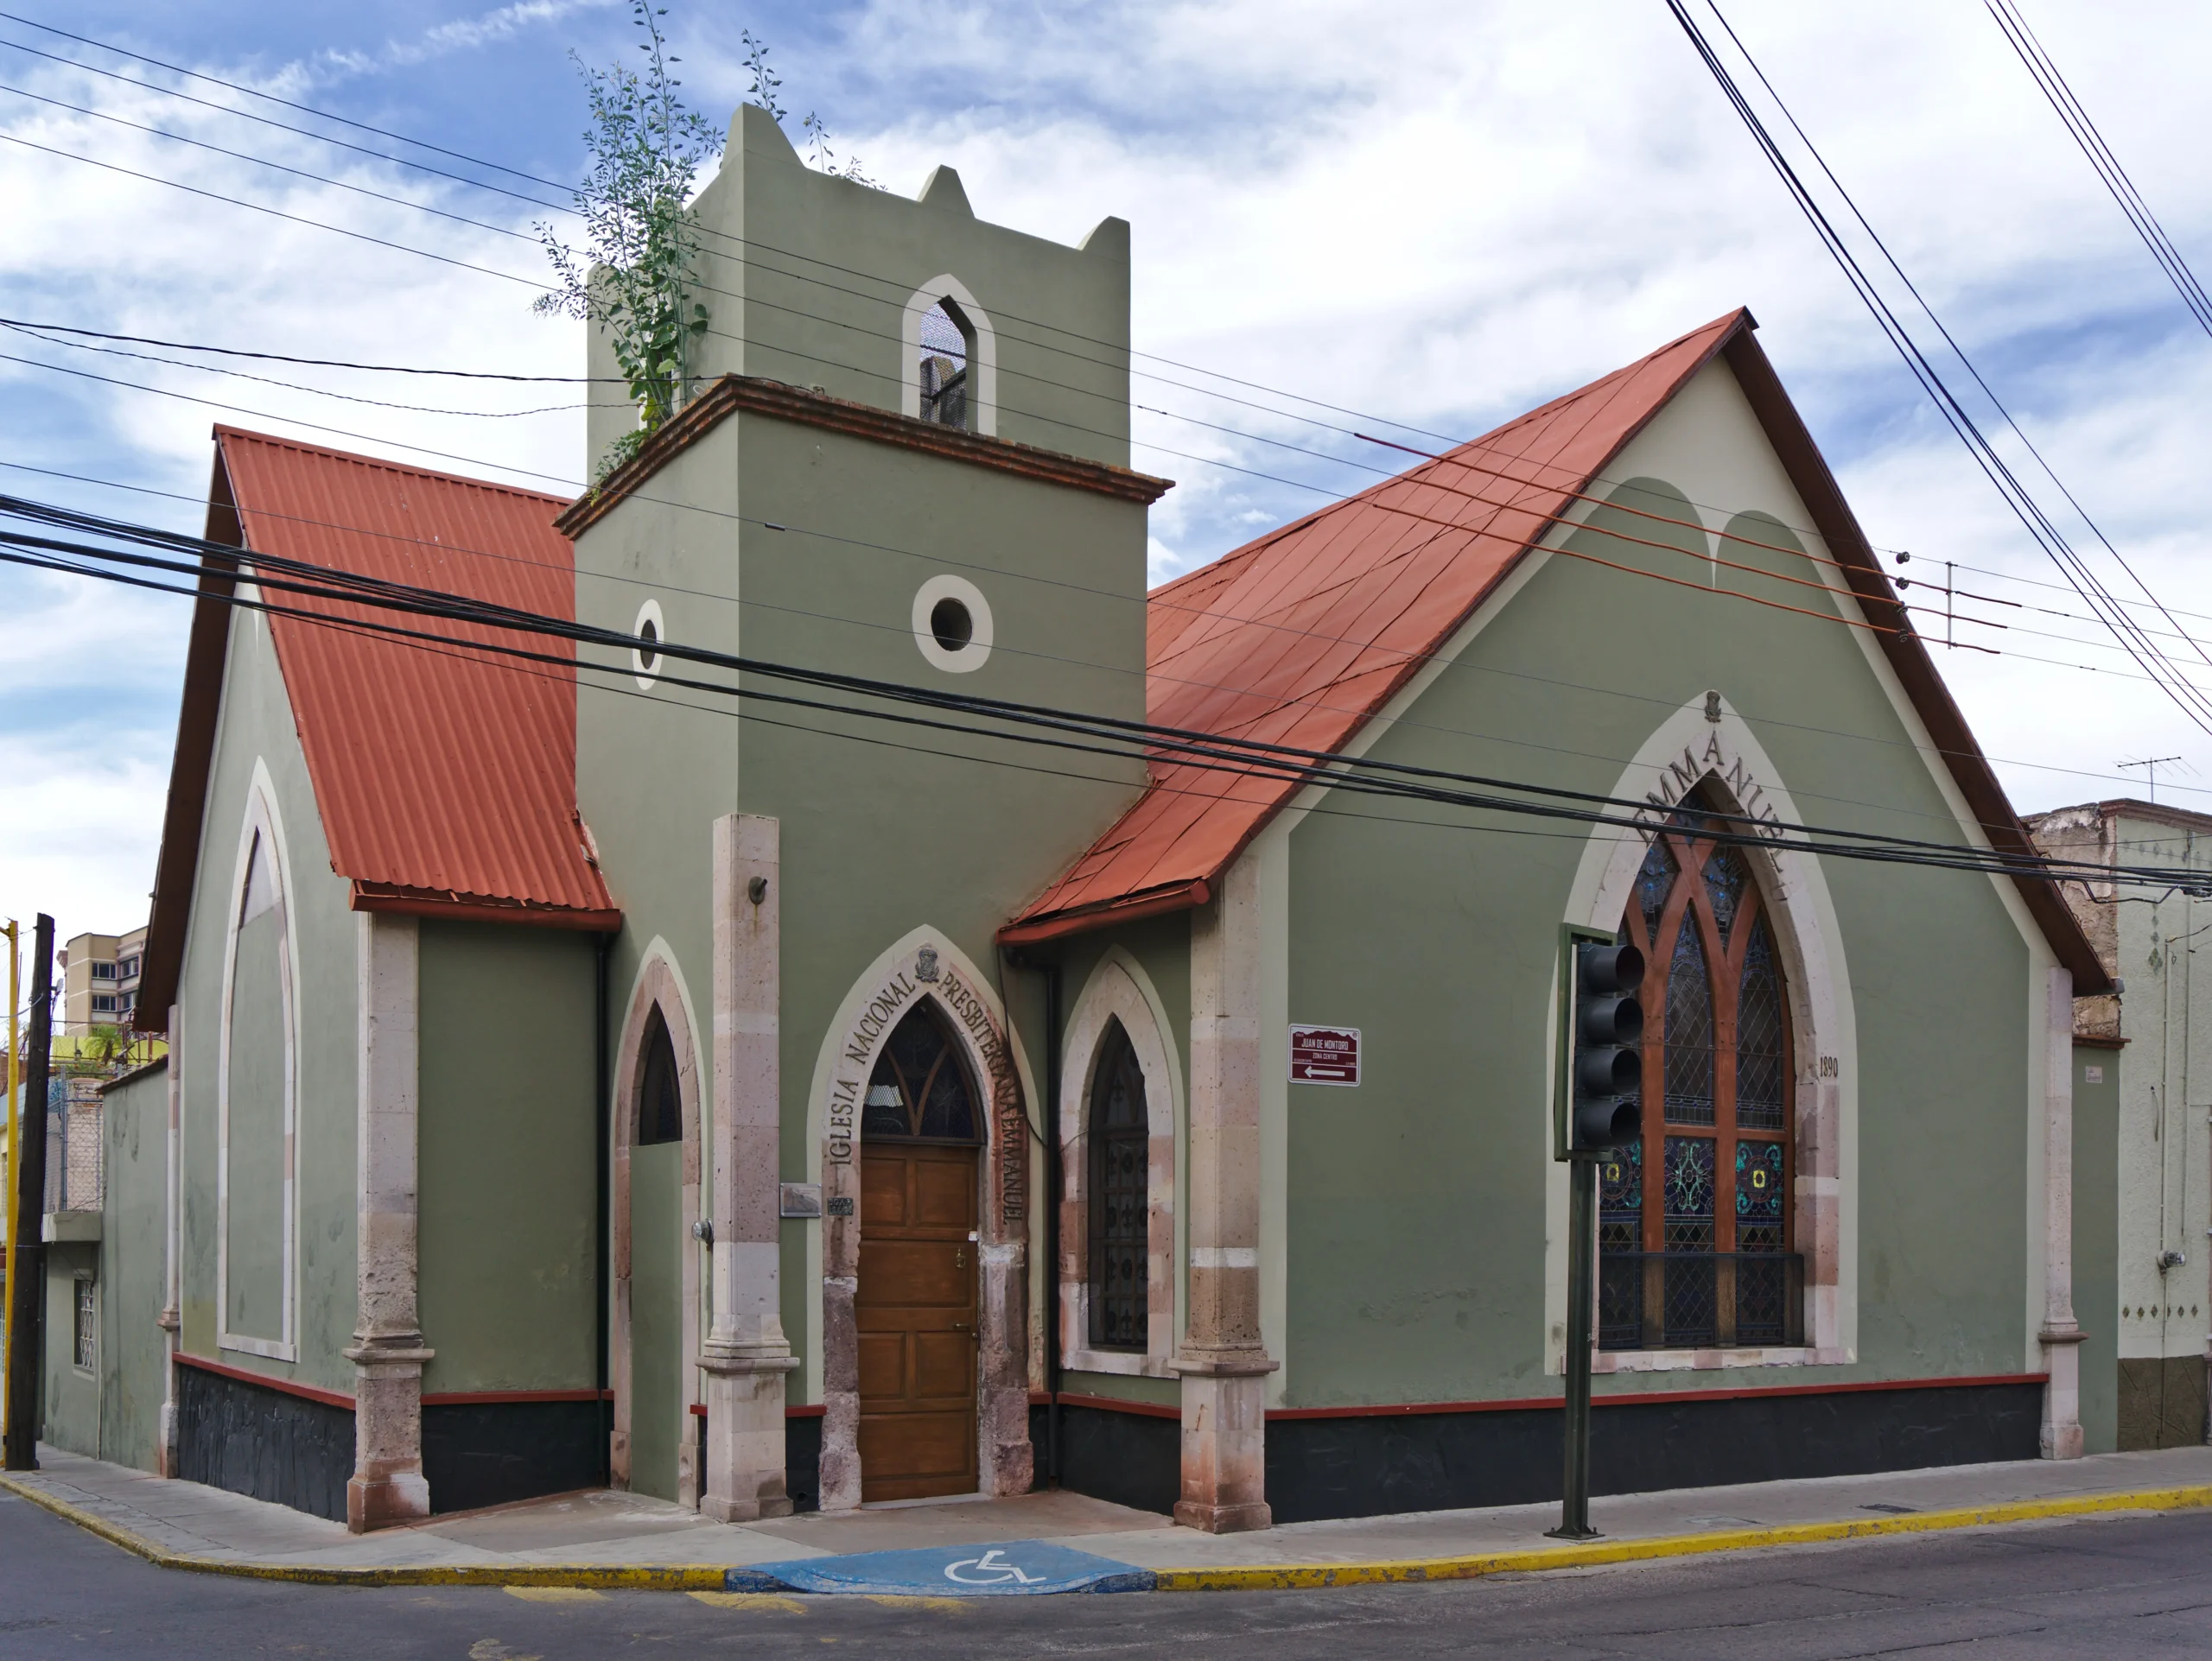
[[[1590,1413],[1590,1491],[2033,1460],[2039,1418],[2042,1385],[1608,1402]],[[1537,1504],[1559,1497],[1559,1464],[1555,1409],[1267,1420],[1276,1522]]]

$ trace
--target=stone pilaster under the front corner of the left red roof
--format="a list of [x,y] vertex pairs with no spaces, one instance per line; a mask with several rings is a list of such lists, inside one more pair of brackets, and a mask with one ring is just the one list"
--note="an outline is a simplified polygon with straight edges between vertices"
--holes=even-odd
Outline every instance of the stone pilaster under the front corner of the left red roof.
[[420,1079],[414,918],[356,916],[361,1079],[354,1181],[356,1247],[354,1475],[345,1526],[356,1535],[429,1515],[422,1480],[422,1345],[416,1305],[416,1104]]

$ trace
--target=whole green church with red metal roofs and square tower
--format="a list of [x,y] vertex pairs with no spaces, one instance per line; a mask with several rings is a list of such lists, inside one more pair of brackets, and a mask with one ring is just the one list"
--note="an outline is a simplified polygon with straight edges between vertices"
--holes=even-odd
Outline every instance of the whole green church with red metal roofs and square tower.
[[[752,108],[697,212],[701,387],[577,502],[217,431],[237,584],[637,648],[208,579],[170,1132],[150,1077],[108,1128],[104,1296],[173,1354],[102,1362],[108,1458],[354,1526],[595,1482],[743,1519],[1020,1493],[1057,1413],[1068,1486],[1201,1528],[1551,1497],[1564,924],[1652,964],[1599,1488],[2079,1451],[2106,973],[2042,882],[1776,840],[2026,847],[1745,312],[1146,595],[1126,223],[825,177]],[[841,675],[1641,818],[1035,750]]]

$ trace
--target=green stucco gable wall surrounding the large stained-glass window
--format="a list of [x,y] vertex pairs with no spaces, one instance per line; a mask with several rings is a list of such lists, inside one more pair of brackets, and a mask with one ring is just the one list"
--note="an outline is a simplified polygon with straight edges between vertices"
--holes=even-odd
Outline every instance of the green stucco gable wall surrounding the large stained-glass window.
[[[1657,480],[1621,500],[1697,518]],[[1601,526],[1712,551],[1692,529],[1599,509],[1568,549],[1692,586],[1553,557],[1369,754],[1610,792],[1661,721],[1719,688],[1807,818],[1958,834],[1847,628],[1721,599],[1703,557]],[[1730,529],[1792,540],[1772,520]],[[1818,577],[1787,553],[1730,544],[1725,557]],[[1834,615],[1816,588],[1765,591]],[[1356,1090],[1290,1086],[1285,1402],[1555,1391],[1548,993],[1586,832],[1360,798],[1327,807],[1290,845],[1287,1013],[1363,1028],[1365,1075]],[[1858,1360],[1790,1382],[2017,1373],[2028,949],[1986,878],[1834,858],[1823,871],[1858,1031]],[[1697,1376],[1736,1382],[1776,1378]],[[1606,1387],[1681,1385],[1644,1373]]]

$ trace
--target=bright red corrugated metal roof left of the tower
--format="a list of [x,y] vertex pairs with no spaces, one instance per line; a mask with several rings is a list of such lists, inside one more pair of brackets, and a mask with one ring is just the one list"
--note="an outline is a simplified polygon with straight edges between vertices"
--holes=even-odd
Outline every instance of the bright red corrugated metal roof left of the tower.
[[[217,427],[250,553],[575,617],[566,498]],[[367,909],[473,907],[608,927],[575,812],[575,672],[343,624],[367,606],[270,595],[330,863]],[[389,617],[389,613],[385,613]],[[429,621],[451,639],[568,652],[538,635]],[[553,920],[544,916],[544,920]]]

